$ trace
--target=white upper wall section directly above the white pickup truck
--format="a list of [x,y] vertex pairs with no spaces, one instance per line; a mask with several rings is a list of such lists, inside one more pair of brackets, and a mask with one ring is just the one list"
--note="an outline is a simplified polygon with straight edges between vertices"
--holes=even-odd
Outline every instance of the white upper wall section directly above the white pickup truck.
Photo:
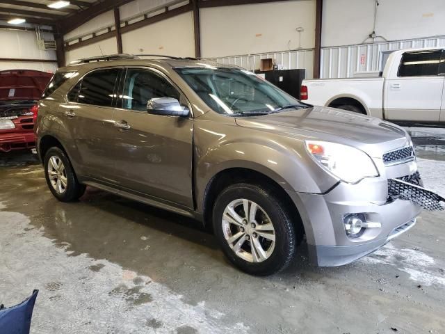
[[[362,43],[373,31],[374,3],[375,0],[324,0],[322,46]],[[379,3],[376,33],[387,40],[445,35],[443,0],[379,0]]]

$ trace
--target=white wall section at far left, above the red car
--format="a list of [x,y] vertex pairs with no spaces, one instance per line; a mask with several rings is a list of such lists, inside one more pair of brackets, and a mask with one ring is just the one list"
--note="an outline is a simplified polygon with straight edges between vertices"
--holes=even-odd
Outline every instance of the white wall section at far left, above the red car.
[[[53,39],[52,33],[44,38]],[[56,51],[38,49],[35,31],[14,31],[0,29],[0,58],[56,59]],[[56,63],[0,62],[0,70],[29,69],[54,72]]]

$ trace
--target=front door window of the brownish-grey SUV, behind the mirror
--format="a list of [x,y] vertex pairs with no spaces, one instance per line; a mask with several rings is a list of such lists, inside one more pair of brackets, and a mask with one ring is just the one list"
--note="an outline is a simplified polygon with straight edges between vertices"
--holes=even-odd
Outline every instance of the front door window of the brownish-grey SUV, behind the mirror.
[[147,111],[147,102],[154,97],[174,97],[179,101],[181,94],[160,74],[129,69],[124,83],[122,108]]

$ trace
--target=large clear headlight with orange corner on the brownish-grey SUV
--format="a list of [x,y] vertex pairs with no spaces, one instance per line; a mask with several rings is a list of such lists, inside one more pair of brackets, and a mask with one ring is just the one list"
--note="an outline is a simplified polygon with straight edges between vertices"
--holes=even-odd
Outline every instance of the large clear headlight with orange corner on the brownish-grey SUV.
[[378,170],[365,152],[348,145],[327,141],[306,141],[306,150],[325,170],[348,183],[378,176]]

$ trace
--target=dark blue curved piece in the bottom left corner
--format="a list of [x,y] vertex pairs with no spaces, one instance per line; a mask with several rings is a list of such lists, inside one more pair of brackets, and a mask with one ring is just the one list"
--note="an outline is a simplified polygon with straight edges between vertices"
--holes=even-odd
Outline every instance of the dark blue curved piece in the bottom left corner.
[[38,292],[39,290],[34,290],[33,294],[19,305],[0,309],[0,334],[29,334]]

